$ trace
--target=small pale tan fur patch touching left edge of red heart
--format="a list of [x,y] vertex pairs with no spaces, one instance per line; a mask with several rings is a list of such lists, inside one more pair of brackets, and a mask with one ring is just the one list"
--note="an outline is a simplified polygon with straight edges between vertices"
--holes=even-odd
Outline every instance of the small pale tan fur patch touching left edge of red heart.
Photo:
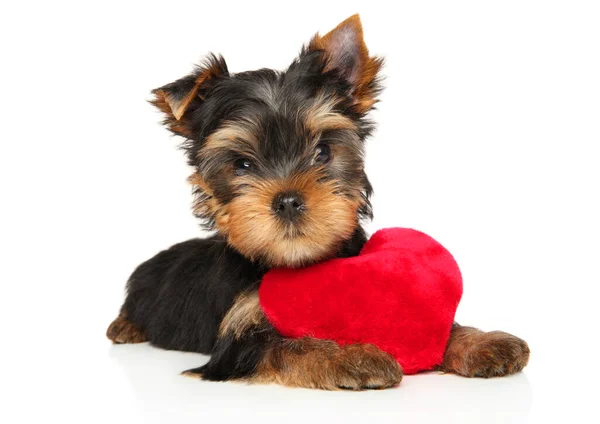
[[237,339],[249,328],[264,323],[265,316],[260,308],[258,292],[242,293],[221,321],[219,336],[233,334]]

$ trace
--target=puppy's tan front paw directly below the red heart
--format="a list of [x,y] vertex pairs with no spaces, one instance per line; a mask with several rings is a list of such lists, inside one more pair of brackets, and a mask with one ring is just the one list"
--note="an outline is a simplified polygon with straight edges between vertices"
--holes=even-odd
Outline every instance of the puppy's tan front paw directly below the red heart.
[[345,390],[386,389],[402,381],[400,364],[370,344],[343,347],[328,371],[335,387]]

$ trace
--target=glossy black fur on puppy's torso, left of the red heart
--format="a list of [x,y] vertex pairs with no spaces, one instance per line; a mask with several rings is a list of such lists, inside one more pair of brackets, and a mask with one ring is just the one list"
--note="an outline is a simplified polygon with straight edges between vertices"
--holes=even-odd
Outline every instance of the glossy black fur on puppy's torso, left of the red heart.
[[264,271],[219,236],[188,240],[133,272],[123,309],[153,345],[210,353],[235,296],[257,286]]

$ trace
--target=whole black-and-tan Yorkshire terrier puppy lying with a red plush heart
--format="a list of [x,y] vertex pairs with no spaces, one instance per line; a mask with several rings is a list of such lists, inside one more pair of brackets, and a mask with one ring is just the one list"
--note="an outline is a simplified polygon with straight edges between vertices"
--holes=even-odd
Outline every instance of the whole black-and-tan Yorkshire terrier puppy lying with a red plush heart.
[[[114,343],[210,354],[185,372],[204,380],[329,390],[400,382],[398,363],[373,345],[282,337],[257,296],[269,268],[354,256],[367,240],[364,149],[381,66],[355,15],[314,36],[283,72],[232,74],[210,56],[153,91],[164,124],[185,139],[194,212],[214,235],[177,244],[133,272],[107,330]],[[528,359],[515,336],[455,324],[439,369],[503,376]]]

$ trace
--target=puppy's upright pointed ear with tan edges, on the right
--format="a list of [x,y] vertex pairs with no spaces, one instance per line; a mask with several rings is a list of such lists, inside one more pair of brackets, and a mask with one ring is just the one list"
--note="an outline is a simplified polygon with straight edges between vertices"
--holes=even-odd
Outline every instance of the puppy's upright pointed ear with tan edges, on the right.
[[308,51],[320,50],[325,55],[324,71],[335,70],[352,87],[356,108],[365,113],[377,102],[377,73],[383,59],[369,56],[363,39],[363,29],[358,14],[350,16],[327,34],[315,35]]

